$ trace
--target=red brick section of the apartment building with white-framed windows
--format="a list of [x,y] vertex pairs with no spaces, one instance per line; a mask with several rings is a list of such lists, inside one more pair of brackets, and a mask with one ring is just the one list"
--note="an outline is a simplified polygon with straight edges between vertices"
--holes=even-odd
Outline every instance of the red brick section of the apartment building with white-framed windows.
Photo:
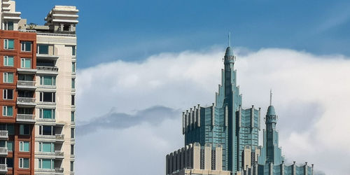
[[36,33],[0,30],[0,174],[34,174]]

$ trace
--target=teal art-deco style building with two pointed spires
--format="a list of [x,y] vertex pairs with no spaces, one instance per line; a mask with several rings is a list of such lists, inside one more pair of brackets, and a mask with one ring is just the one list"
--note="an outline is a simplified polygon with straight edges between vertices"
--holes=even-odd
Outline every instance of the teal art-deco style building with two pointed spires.
[[[220,157],[222,169],[231,174],[314,174],[314,165],[310,167],[305,163],[297,166],[295,162],[293,165],[285,165],[281,148],[279,148],[279,134],[276,131],[277,116],[272,106],[272,99],[264,118],[266,129],[263,130],[263,146],[258,145],[261,125],[260,108],[255,109],[252,106],[250,109],[242,109],[242,94],[239,94],[237,85],[235,61],[236,57],[229,44],[225,51],[222,84],[219,85],[216,93],[216,103],[204,107],[198,104],[183,112],[182,132],[185,135],[185,150],[192,148],[193,144],[202,146],[210,144],[213,151],[219,146],[222,149]],[[186,174],[186,169],[208,170],[207,167],[196,167],[193,162],[183,165],[182,156],[188,159],[195,155],[193,151],[190,152],[192,155],[181,154],[182,152],[179,150],[167,155],[166,174],[175,175],[179,172]],[[200,152],[198,156],[205,160],[207,155],[209,154]],[[211,169],[213,168],[209,168]]]

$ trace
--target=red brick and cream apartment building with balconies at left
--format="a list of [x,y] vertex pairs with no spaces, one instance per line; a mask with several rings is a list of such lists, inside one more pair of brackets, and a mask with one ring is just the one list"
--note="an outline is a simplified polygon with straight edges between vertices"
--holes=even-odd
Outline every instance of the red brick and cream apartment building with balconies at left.
[[74,174],[78,10],[27,25],[15,1],[0,5],[0,174]]

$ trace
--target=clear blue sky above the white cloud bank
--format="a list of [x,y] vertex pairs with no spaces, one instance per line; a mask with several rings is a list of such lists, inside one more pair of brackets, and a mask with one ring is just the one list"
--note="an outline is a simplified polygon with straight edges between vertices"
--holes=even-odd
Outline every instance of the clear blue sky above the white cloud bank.
[[[54,5],[77,6],[78,68],[160,52],[235,46],[350,55],[349,1],[17,1],[28,22],[43,25]],[[35,10],[33,10],[35,9]]]

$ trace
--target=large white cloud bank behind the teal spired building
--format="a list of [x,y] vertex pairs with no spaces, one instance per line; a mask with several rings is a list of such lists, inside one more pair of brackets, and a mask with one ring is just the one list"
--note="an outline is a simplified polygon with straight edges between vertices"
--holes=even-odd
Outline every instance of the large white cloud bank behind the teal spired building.
[[[280,145],[286,158],[297,162],[307,160],[326,174],[349,171],[339,160],[346,162],[350,156],[350,140],[346,139],[350,134],[346,110],[350,99],[350,58],[278,48],[241,56],[239,50],[237,53],[235,66],[244,106],[260,106],[265,113],[269,89],[273,89],[273,104],[279,115]],[[103,116],[113,108],[118,112],[134,113],[156,105],[188,109],[196,104],[211,104],[221,83],[222,57],[223,50],[215,49],[162,53],[144,62],[117,61],[79,70],[78,122]],[[93,165],[102,155],[80,155],[98,147],[98,144],[91,144],[91,138],[94,138],[112,146],[111,150],[106,150],[111,153],[106,161],[123,165],[123,156],[130,156],[138,159],[133,162],[136,166],[156,165],[157,168],[142,168],[146,174],[163,174],[164,171],[159,169],[165,169],[165,153],[183,144],[180,118],[179,113],[179,120],[174,123],[163,122],[156,127],[137,125],[125,130],[99,130],[87,134],[78,144],[77,168],[82,169],[79,170],[81,173],[89,174],[83,167]],[[157,132],[152,132],[155,130]],[[150,158],[144,152],[154,156]],[[121,157],[117,156],[119,153]],[[116,157],[112,159],[112,155]],[[342,158],[335,155],[342,155]],[[127,166],[120,168],[127,173]],[[112,165],[110,168],[104,166],[104,171],[113,174],[115,169]]]

